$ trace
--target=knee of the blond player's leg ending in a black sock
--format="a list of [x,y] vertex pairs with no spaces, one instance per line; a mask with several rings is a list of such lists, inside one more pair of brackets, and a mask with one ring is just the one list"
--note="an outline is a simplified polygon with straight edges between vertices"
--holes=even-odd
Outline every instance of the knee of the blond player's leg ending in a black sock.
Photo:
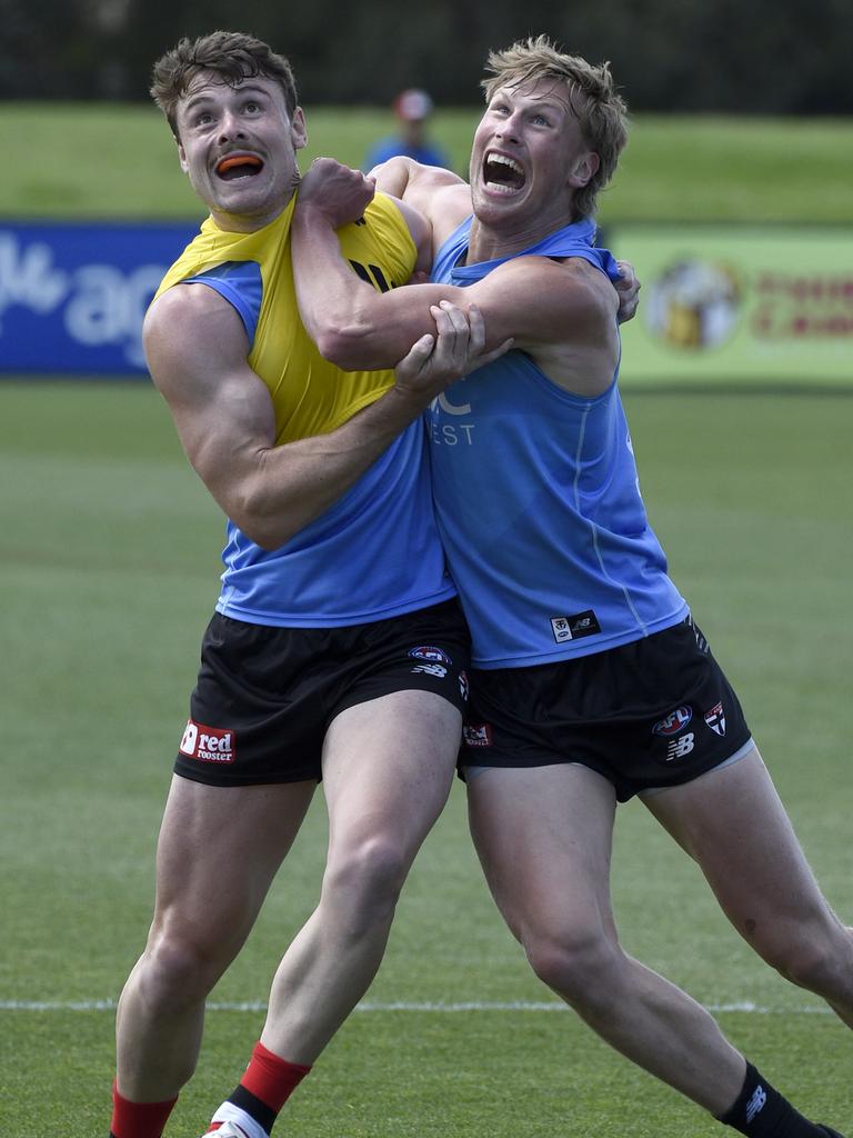
[[601,931],[523,934],[536,975],[573,1007],[606,999],[616,982],[621,953]]

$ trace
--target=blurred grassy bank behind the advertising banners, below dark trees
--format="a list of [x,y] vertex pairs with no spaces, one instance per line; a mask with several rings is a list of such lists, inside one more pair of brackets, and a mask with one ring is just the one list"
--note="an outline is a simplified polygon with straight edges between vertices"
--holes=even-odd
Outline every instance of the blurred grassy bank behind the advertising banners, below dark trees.
[[[434,131],[467,171],[477,107],[445,109]],[[305,162],[332,155],[359,165],[392,130],[386,112],[308,113]],[[0,105],[0,145],[26,154],[0,179],[0,217],[198,217],[165,121],[152,107]],[[853,123],[637,116],[604,222],[853,221]]]

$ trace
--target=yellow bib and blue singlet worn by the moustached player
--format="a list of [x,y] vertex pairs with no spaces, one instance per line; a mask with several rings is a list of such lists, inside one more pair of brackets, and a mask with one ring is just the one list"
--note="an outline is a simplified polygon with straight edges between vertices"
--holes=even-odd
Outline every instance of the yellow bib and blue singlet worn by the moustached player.
[[[334,430],[394,384],[391,371],[341,371],[309,339],[291,265],[295,204],[296,197],[252,233],[225,231],[208,218],[157,292],[199,282],[234,306],[250,345],[248,363],[273,401],[276,444]],[[345,256],[375,288],[386,291],[411,277],[415,245],[390,198],[378,196],[339,239]],[[279,550],[260,549],[229,520],[223,561],[217,611],[251,624],[357,625],[453,596],[422,422],[413,422],[336,505]]]

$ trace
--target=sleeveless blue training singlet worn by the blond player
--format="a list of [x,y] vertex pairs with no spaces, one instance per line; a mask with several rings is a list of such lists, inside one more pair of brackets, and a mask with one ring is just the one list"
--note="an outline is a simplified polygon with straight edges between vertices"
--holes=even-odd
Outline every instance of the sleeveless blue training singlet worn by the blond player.
[[[464,264],[472,218],[438,253],[433,281],[472,284],[508,258]],[[582,257],[611,279],[581,221],[523,253]],[[588,398],[523,352],[454,384],[428,412],[433,495],[478,668],[587,655],[687,616],[637,481],[616,377]]]

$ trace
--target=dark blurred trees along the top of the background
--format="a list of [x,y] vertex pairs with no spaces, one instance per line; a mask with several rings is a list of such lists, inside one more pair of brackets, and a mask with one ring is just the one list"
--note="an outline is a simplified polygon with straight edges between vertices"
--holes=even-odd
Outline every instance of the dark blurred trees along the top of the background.
[[303,100],[478,101],[489,48],[546,32],[610,59],[635,110],[850,114],[851,0],[0,0],[0,98],[144,99],[182,35],[237,27],[293,63]]

